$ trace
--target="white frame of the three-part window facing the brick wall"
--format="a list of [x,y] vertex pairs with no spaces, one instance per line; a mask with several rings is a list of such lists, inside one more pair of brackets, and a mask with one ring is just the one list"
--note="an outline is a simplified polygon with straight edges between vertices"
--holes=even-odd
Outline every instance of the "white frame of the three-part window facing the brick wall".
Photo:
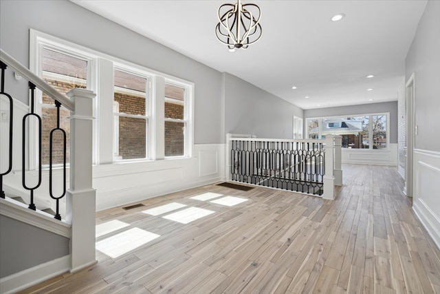
[[[178,78],[176,76],[171,76],[169,74],[164,74],[162,72],[157,72],[155,70],[151,70],[148,67],[143,65],[139,65],[136,63],[131,63],[124,59],[120,59],[115,56],[111,56],[108,54],[104,54],[102,52],[98,52],[96,50],[92,50],[86,48],[82,45],[77,45],[75,43],[65,41],[63,39],[59,39],[56,36],[52,36],[50,34],[45,34],[43,32],[39,32],[34,29],[30,29],[30,70],[37,74],[38,76],[42,76],[41,71],[41,46],[50,46],[52,50],[60,51],[62,53],[80,56],[81,59],[84,59],[87,56],[88,70],[87,70],[87,90],[94,91],[96,93],[96,98],[94,99],[94,164],[100,165],[102,163],[123,163],[123,162],[148,162],[154,160],[161,159],[179,159],[179,158],[192,158],[192,150],[194,149],[194,100],[195,100],[195,83],[184,80],[182,78]],[[104,93],[104,96],[108,96],[110,91],[113,94],[111,98],[111,105],[113,105],[113,80],[109,80],[109,73],[101,72],[101,65],[103,62],[107,63],[107,67],[109,64],[112,64],[113,72],[116,68],[121,68],[124,71],[129,70],[129,72],[133,72],[134,74],[140,74],[141,76],[148,76],[150,78],[150,87],[148,87],[148,99],[149,105],[151,106],[148,109],[148,125],[147,132],[148,137],[146,138],[146,154],[147,158],[140,159],[127,159],[127,160],[114,160],[113,158],[113,147],[111,151],[104,151],[104,147],[106,145],[113,146],[113,135],[111,139],[102,142],[102,137],[107,136],[106,130],[102,131],[102,127],[104,124],[109,124],[111,119],[111,125],[113,126],[113,107],[107,105],[106,107],[102,107],[103,98],[101,96],[101,92]],[[111,74],[113,76],[114,73]],[[102,76],[104,76],[105,83],[102,82]],[[114,79],[114,78],[113,78]],[[161,82],[162,81],[162,82]],[[184,99],[184,112],[185,112],[185,120],[186,120],[186,136],[184,143],[184,156],[170,156],[164,158],[164,142],[160,142],[160,140],[164,140],[164,134],[160,134],[160,132],[164,132],[164,116],[159,116],[157,114],[158,109],[157,105],[164,101],[164,89],[158,89],[157,87],[160,85],[164,85],[163,81],[167,83],[172,83],[178,85],[179,87],[185,88],[185,99]],[[110,84],[106,85],[106,84]],[[103,87],[107,87],[105,90],[102,90]],[[38,94],[39,91],[37,91]],[[162,93],[162,94],[161,94]],[[41,95],[41,93],[40,93]],[[105,100],[105,99],[104,99]],[[36,112],[41,114],[41,98],[36,99]],[[107,101],[108,102],[108,101]],[[102,108],[105,108],[104,110]],[[163,109],[162,109],[163,111]],[[104,112],[104,113],[103,113]],[[108,128],[108,127],[107,127]],[[114,127],[112,127],[114,131]],[[107,129],[109,132],[109,129]],[[32,134],[33,133],[33,134]],[[30,149],[35,147],[36,145],[36,134],[35,132],[31,132],[32,138],[30,137]],[[104,134],[104,135],[102,135]],[[113,134],[113,132],[112,132]],[[103,154],[105,153],[105,154]],[[30,167],[36,167],[36,152],[35,154],[30,154]]]

